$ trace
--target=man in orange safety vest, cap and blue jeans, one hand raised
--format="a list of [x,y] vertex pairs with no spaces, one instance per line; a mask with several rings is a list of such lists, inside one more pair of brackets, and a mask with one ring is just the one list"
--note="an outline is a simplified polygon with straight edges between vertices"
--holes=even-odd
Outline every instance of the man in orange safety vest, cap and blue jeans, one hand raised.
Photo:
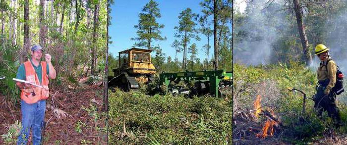
[[39,45],[31,48],[31,59],[22,63],[18,68],[17,79],[29,81],[40,87],[16,82],[21,90],[22,129],[17,145],[26,144],[30,129],[33,133],[33,145],[41,144],[41,131],[44,125],[46,99],[49,97],[49,79],[56,78],[56,70],[52,65],[52,56],[45,54],[46,61],[40,61],[43,49]]

